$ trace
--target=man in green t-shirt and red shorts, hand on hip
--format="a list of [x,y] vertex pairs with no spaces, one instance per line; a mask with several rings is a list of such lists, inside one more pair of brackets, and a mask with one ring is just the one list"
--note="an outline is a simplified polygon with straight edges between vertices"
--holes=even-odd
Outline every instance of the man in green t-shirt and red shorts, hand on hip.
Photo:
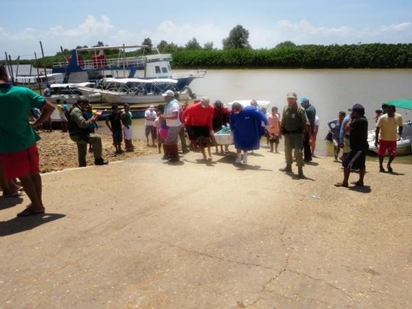
[[[32,108],[43,108],[41,116],[29,122]],[[10,84],[7,71],[0,65],[0,161],[8,179],[19,178],[29,196],[30,205],[19,217],[44,214],[41,176],[34,127],[51,117],[54,106],[41,95]]]

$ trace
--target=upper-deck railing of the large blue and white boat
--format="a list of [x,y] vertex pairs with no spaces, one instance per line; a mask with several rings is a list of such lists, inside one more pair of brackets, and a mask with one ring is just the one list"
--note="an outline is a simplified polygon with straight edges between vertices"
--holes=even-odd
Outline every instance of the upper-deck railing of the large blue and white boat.
[[[92,60],[79,60],[79,65],[82,69],[110,69],[112,67],[139,67],[143,66],[147,62],[157,61],[171,61],[172,55],[170,54],[158,54],[140,57],[126,57],[126,58],[104,58],[104,59],[92,59]],[[54,62],[53,67],[68,67],[69,62]]]

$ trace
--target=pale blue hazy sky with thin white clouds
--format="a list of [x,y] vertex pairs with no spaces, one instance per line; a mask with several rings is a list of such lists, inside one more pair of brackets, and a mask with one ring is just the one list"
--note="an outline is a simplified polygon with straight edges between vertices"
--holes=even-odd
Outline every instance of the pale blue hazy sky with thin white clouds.
[[196,37],[221,47],[232,27],[246,27],[254,48],[297,44],[411,43],[412,1],[3,1],[3,52],[32,58],[60,45],[140,44],[152,38],[185,45]]

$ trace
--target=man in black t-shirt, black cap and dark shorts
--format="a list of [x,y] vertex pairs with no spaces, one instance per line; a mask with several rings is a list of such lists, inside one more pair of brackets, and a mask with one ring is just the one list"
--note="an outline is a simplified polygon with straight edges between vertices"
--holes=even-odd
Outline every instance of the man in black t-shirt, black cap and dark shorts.
[[349,110],[352,112],[352,119],[346,125],[346,130],[350,131],[350,152],[345,161],[343,161],[343,181],[335,183],[336,187],[349,187],[349,176],[351,170],[359,170],[359,180],[352,182],[354,185],[363,187],[365,177],[366,152],[369,148],[367,143],[367,119],[365,117],[365,108],[361,104],[354,104]]

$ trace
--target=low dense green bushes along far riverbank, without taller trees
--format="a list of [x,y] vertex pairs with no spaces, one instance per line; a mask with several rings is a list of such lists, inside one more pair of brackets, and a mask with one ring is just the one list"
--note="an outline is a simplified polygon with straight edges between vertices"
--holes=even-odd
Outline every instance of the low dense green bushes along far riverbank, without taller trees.
[[[412,44],[359,44],[359,45],[286,45],[273,49],[187,49],[176,47],[169,52],[176,68],[412,68]],[[137,56],[138,52],[126,53]],[[89,54],[82,57],[90,59]],[[108,54],[106,57],[116,57]],[[40,67],[52,67],[53,62],[64,61],[59,53],[32,61]]]

